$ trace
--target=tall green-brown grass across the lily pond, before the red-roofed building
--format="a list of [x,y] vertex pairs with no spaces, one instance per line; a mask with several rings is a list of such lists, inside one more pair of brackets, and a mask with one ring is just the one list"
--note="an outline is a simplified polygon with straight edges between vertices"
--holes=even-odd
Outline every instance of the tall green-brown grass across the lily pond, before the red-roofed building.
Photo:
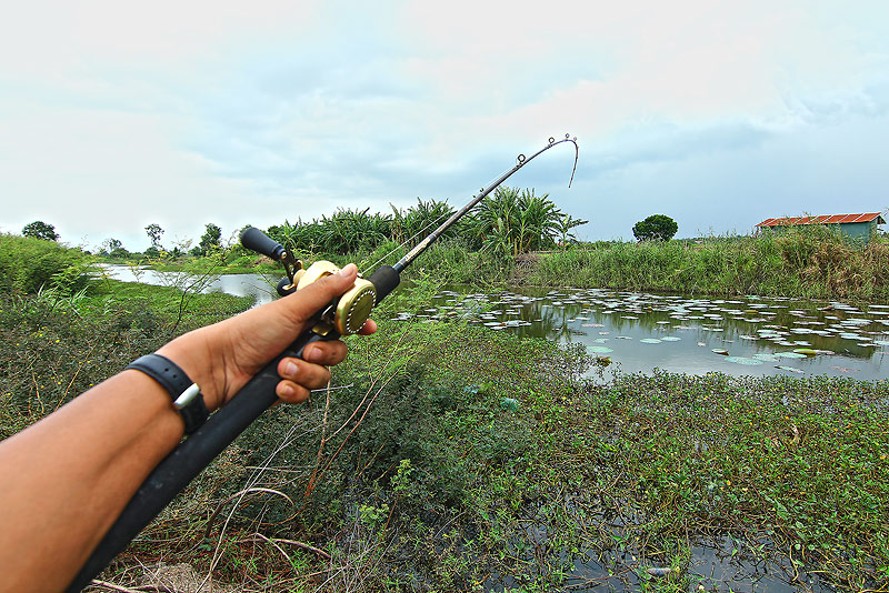
[[889,242],[849,244],[821,227],[783,235],[607,243],[540,260],[529,284],[807,299],[889,298]]

